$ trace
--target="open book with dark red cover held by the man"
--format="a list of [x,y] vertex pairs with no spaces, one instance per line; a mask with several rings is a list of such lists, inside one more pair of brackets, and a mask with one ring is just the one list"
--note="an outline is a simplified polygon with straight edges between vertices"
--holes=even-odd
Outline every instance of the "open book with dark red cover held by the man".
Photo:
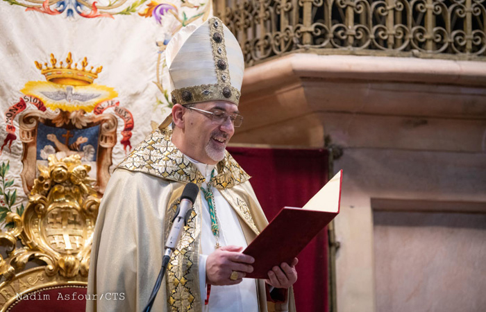
[[243,251],[255,258],[246,277],[267,279],[280,263],[292,263],[299,252],[340,212],[342,171],[337,173],[302,208],[283,207]]

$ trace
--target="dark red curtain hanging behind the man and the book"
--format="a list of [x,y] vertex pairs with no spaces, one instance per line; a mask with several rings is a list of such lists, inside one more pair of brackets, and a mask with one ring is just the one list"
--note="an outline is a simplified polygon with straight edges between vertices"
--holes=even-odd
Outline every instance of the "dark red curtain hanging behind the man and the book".
[[[328,180],[327,150],[228,148],[251,175],[251,185],[269,220],[282,207],[302,207]],[[323,229],[299,254],[294,285],[299,312],[328,311],[328,236]]]

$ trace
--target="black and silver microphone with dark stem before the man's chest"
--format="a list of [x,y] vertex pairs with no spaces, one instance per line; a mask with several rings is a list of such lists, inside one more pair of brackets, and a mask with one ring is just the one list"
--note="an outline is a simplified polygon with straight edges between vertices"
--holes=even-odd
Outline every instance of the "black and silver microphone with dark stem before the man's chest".
[[160,285],[162,284],[162,278],[165,275],[165,270],[169,264],[172,252],[176,249],[177,243],[181,238],[181,229],[184,225],[187,225],[187,220],[191,215],[192,205],[196,201],[197,194],[199,194],[199,187],[194,183],[188,183],[184,187],[183,194],[181,195],[181,203],[177,207],[176,216],[172,219],[172,227],[169,232],[169,237],[165,241],[165,252],[162,257],[162,268],[158,273],[156,284],[153,286],[152,293],[149,298],[149,303],[146,304],[144,312],[149,312],[152,309],[153,302],[156,300],[156,296]]

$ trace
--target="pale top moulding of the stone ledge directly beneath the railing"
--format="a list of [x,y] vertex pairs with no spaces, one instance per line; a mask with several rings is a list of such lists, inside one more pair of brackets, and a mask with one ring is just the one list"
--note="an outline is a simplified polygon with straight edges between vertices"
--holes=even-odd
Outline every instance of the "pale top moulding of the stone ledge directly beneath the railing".
[[245,69],[242,94],[299,78],[486,87],[486,62],[294,53]]

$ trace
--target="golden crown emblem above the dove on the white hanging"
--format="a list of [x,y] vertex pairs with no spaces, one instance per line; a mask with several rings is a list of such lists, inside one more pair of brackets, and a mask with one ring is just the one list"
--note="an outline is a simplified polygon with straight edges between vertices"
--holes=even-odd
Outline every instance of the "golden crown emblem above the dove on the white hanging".
[[45,62],[44,68],[44,66],[37,61],[35,61],[35,66],[40,69],[42,75],[46,76],[47,81],[58,83],[60,85],[91,85],[93,80],[98,78],[98,74],[101,73],[101,70],[103,69],[103,67],[100,66],[95,71],[93,71],[94,67],[87,70],[86,58],[81,62],[81,69],[78,69],[78,63],[74,63],[74,66],[72,66],[72,62],[71,52],[67,54],[65,66],[62,61],[57,65],[58,60],[56,60],[51,53],[51,66]]

